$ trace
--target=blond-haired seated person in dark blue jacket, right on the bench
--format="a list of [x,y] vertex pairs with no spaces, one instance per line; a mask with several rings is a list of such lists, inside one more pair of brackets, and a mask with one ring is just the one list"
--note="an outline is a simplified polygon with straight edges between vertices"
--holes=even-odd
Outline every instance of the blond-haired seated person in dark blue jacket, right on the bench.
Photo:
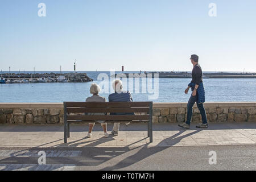
[[[114,80],[112,83],[115,93],[109,95],[109,102],[133,102],[131,93],[129,91],[123,91],[123,84],[121,80]],[[112,115],[118,114],[134,114],[134,113],[110,113]],[[129,123],[126,123],[128,125]],[[112,135],[117,136],[119,131],[120,123],[114,123]]]

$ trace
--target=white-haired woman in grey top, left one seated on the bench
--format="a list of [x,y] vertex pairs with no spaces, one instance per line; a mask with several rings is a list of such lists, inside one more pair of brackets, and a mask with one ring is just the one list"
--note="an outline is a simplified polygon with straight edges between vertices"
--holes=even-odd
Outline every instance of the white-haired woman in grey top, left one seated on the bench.
[[[86,98],[86,102],[106,102],[106,98],[105,97],[101,97],[99,96],[99,92],[100,92],[100,86],[98,86],[97,84],[92,84],[90,86],[90,93],[93,94],[93,96]],[[103,115],[104,113],[87,113],[88,115],[92,115],[92,114],[96,114],[96,115]],[[104,130],[104,136],[105,138],[109,137],[108,131],[106,129],[106,123],[104,123],[104,121],[97,121],[101,123],[102,129]],[[89,123],[89,131],[88,131],[88,138],[92,137],[92,129],[93,126],[95,125],[95,123]]]

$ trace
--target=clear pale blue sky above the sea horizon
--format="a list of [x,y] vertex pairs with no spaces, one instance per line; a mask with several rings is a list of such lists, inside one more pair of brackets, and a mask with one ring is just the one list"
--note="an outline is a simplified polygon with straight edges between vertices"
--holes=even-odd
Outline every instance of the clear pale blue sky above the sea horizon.
[[196,53],[204,71],[256,72],[255,19],[255,0],[1,0],[0,69],[191,71]]

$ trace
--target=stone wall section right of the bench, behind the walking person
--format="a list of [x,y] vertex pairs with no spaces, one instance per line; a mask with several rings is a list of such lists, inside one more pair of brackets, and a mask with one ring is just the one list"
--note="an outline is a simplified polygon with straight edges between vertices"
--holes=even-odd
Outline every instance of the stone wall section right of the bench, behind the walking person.
[[[256,103],[205,103],[208,122],[256,122]],[[181,123],[187,118],[185,103],[156,103],[153,109],[154,123]],[[193,106],[192,122],[201,123],[202,117]]]

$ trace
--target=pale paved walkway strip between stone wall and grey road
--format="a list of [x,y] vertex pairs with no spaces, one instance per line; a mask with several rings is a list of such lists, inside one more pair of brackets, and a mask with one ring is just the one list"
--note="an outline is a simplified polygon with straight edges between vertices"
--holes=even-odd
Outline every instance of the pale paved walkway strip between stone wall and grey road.
[[[111,131],[113,124],[108,125]],[[117,137],[104,138],[101,126],[86,138],[88,125],[71,125],[71,138],[63,143],[61,125],[1,125],[0,147],[138,147],[216,146],[256,144],[256,123],[210,123],[209,129],[185,130],[173,123],[153,125],[153,143],[147,138],[146,123],[121,124]],[[110,133],[110,132],[109,132]]]

